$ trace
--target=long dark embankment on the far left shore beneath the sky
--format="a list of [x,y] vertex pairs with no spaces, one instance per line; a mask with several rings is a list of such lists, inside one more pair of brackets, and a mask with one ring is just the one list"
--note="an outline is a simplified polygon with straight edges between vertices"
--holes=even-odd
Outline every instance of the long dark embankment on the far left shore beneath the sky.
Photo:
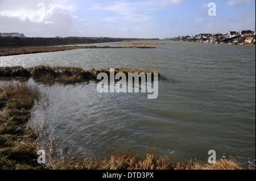
[[[118,41],[148,40],[148,39],[127,39],[113,37],[0,37],[0,47],[31,47],[31,46],[55,46],[86,43],[108,43]],[[150,39],[158,40],[158,39]]]

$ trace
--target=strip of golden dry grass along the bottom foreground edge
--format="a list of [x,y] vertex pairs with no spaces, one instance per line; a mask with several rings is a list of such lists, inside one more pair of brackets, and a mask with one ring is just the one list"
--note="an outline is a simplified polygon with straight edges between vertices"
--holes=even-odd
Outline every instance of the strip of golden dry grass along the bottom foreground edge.
[[106,155],[106,157],[85,158],[84,161],[75,157],[61,156],[48,159],[48,169],[57,170],[243,170],[241,163],[232,159],[220,159],[216,164],[201,161],[177,162],[156,155],[154,149],[140,158],[133,151]]

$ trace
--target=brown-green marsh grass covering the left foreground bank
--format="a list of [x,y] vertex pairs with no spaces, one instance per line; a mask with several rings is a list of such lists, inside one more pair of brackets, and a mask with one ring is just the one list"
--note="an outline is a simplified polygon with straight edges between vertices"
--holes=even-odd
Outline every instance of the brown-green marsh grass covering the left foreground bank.
[[40,99],[35,86],[9,84],[0,87],[0,169],[38,169],[36,135],[26,128],[30,109]]

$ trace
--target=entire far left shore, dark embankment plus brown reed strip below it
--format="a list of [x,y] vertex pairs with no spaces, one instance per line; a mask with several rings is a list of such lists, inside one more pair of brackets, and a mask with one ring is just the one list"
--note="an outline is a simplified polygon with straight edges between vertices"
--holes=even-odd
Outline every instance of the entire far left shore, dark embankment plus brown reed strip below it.
[[[95,46],[95,45],[70,45],[108,43],[119,41],[152,41],[155,39],[122,39],[122,38],[97,38],[97,37],[67,37],[67,38],[28,38],[28,37],[0,37],[0,56],[11,56],[16,54],[57,52],[72,49],[88,48],[156,48],[147,44],[158,43],[127,43],[129,45],[118,46]],[[69,46],[65,46],[69,45]],[[2,47],[2,48],[1,48]]]

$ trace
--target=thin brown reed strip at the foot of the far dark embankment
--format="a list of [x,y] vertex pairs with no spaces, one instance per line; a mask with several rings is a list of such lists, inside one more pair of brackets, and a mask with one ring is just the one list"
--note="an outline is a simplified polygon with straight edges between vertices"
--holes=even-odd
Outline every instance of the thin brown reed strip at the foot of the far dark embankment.
[[154,46],[147,45],[126,45],[126,46],[59,46],[59,47],[19,47],[19,48],[1,48],[0,56],[11,56],[17,54],[30,54],[30,53],[47,53],[58,52],[72,49],[89,49],[89,48],[155,48]]

